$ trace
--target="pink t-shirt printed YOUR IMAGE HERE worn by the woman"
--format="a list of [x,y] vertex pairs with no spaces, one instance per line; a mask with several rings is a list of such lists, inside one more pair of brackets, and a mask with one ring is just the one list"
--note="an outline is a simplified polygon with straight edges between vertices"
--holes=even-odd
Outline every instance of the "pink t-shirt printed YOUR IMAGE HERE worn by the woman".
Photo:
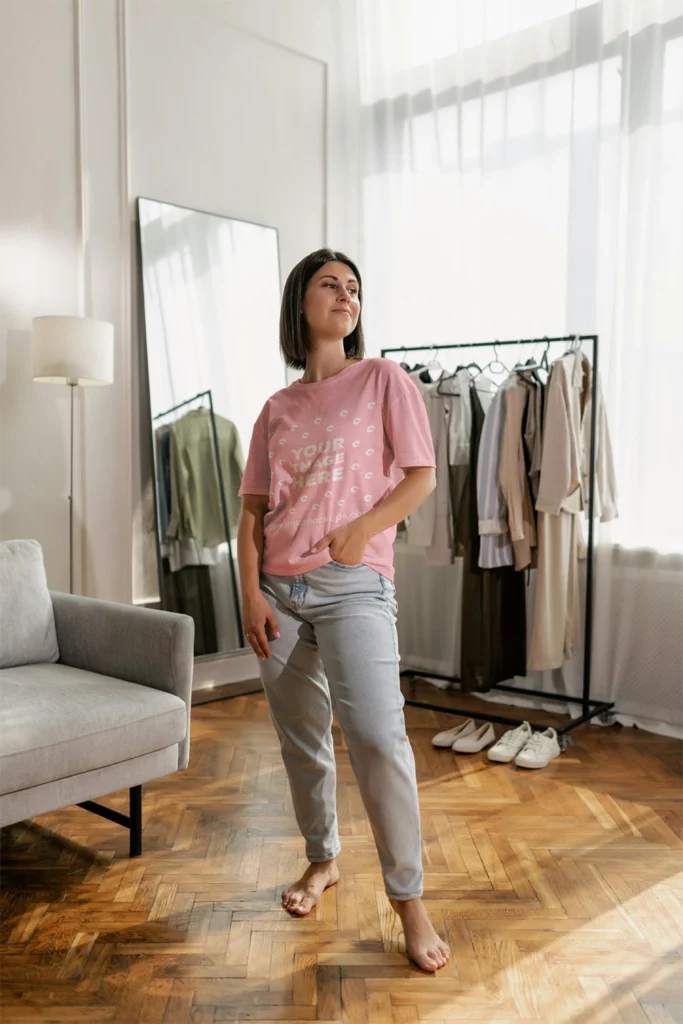
[[[240,496],[268,495],[261,568],[309,572],[326,534],[378,505],[407,466],[435,466],[424,399],[404,370],[368,358],[310,384],[294,381],[254,424]],[[396,527],[376,534],[362,561],[393,580]]]

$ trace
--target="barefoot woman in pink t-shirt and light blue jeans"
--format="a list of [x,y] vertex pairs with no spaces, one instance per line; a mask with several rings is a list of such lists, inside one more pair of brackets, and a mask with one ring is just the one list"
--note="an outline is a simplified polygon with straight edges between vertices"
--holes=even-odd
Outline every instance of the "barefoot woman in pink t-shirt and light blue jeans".
[[281,349],[304,373],[254,426],[240,489],[243,617],[309,861],[284,906],[307,914],[339,880],[334,709],[409,956],[436,971],[450,949],[421,899],[392,583],[396,523],[433,490],[434,451],[415,384],[395,362],[364,358],[361,301],[357,268],[327,249],[285,286]]

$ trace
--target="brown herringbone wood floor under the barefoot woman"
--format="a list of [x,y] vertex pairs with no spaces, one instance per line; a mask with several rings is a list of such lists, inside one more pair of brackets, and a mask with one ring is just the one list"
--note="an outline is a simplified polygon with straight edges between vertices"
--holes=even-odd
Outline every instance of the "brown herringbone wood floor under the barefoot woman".
[[302,844],[263,697],[193,719],[189,770],[143,791],[141,858],[79,808],[0,831],[3,1024],[683,1022],[683,744],[585,728],[524,773],[434,751],[454,720],[407,709],[455,954],[429,977],[401,954],[339,734],[342,881],[292,920]]

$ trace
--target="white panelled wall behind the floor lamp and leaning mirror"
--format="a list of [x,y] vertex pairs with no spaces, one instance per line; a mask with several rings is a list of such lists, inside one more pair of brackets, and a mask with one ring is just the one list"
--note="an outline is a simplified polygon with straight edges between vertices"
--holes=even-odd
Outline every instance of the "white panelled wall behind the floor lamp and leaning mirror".
[[3,0],[0,539],[41,541],[53,588],[69,581],[69,407],[66,388],[31,383],[31,318],[115,324],[115,386],[77,394],[76,589],[129,601],[132,201],[271,223],[283,275],[326,242],[355,252],[355,88],[341,0]]

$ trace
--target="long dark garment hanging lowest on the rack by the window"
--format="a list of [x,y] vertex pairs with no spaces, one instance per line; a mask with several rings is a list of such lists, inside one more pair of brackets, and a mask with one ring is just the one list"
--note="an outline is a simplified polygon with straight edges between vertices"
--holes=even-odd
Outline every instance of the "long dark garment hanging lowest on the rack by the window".
[[[461,682],[464,690],[485,692],[497,683],[526,673],[526,607],[524,573],[510,566],[482,569],[479,565],[477,464],[484,427],[484,410],[476,388],[471,389],[472,436],[468,478],[462,483],[459,509],[467,521],[454,524],[464,539]],[[502,397],[499,391],[486,418]],[[500,404],[499,404],[500,408]]]

